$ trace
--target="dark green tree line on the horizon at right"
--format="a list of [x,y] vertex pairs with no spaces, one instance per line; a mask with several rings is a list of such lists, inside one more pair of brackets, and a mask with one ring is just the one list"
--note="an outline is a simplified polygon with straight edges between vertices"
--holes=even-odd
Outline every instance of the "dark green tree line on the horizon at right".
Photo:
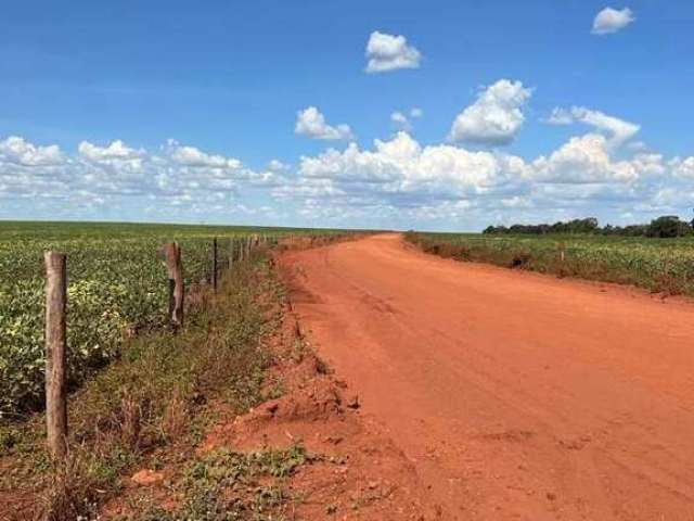
[[600,226],[595,217],[557,221],[553,225],[512,225],[488,226],[483,233],[527,233],[542,236],[547,233],[592,233],[595,236],[624,237],[684,237],[694,234],[694,220],[680,220],[677,215],[664,215],[653,219],[648,225]]

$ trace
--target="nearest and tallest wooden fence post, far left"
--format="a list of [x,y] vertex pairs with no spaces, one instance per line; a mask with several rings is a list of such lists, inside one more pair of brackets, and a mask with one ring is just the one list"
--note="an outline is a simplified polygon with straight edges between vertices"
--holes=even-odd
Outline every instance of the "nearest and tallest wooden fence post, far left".
[[46,427],[51,458],[67,454],[67,257],[46,252]]

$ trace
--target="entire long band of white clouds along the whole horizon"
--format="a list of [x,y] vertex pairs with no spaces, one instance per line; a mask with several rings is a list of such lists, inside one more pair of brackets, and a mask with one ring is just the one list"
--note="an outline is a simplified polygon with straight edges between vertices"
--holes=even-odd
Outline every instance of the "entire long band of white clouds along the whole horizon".
[[[629,132],[604,114],[568,110],[555,116],[594,129],[535,157],[423,144],[399,131],[372,147],[352,142],[303,156],[296,171],[277,160],[255,170],[174,140],[154,150],[119,140],[83,141],[69,152],[24,138],[0,139],[0,217],[132,217],[136,208],[150,208],[153,217],[168,219],[243,214],[273,215],[275,224],[294,216],[333,225],[483,228],[600,216],[596,208],[647,220],[691,207],[693,155],[616,149],[614,136]],[[270,198],[274,209],[266,205]]]

